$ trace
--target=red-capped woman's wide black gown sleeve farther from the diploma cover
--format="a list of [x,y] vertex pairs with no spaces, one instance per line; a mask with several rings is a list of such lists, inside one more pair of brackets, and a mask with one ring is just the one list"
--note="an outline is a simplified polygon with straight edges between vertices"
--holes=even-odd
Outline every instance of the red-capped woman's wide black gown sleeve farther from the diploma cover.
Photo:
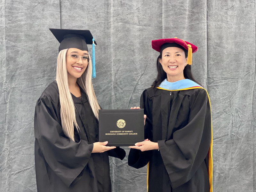
[[190,96],[188,124],[158,146],[173,188],[188,182],[204,161],[211,142],[211,109],[207,92]]

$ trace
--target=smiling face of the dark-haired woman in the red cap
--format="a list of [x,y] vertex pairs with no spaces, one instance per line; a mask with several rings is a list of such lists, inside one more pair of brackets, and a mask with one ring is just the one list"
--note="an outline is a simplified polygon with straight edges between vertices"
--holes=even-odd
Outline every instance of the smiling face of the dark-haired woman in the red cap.
[[169,82],[185,79],[183,70],[187,65],[187,60],[184,50],[178,47],[165,48],[162,52],[162,58],[158,59]]

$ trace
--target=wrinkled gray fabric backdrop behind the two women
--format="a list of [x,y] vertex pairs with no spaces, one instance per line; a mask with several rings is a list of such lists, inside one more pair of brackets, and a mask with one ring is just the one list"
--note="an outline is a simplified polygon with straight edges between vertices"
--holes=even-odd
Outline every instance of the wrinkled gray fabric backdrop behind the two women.
[[[199,47],[195,78],[212,103],[213,191],[256,191],[255,0],[1,0],[0,191],[36,191],[34,108],[55,78],[48,28],[90,29],[93,85],[105,109],[138,106],[156,78],[151,40]],[[146,167],[110,158],[113,192],[146,191]]]

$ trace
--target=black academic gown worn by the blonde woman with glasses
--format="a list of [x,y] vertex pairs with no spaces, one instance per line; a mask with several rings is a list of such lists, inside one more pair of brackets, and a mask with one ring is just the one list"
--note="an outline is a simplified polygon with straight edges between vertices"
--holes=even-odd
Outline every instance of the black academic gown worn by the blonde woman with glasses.
[[76,122],[75,142],[64,135],[60,119],[60,100],[56,81],[52,82],[36,103],[35,165],[38,192],[111,192],[108,155],[123,159],[125,151],[116,148],[92,153],[99,141],[98,120],[86,93],[82,101],[72,95]]

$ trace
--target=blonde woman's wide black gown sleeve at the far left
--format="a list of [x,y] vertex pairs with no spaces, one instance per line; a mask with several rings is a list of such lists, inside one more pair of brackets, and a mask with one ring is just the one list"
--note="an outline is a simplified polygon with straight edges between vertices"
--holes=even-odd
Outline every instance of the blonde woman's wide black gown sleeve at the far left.
[[42,96],[37,101],[35,138],[46,163],[67,186],[70,186],[87,165],[93,144],[85,140],[74,142],[67,138],[62,131],[56,108],[57,104],[48,96]]

